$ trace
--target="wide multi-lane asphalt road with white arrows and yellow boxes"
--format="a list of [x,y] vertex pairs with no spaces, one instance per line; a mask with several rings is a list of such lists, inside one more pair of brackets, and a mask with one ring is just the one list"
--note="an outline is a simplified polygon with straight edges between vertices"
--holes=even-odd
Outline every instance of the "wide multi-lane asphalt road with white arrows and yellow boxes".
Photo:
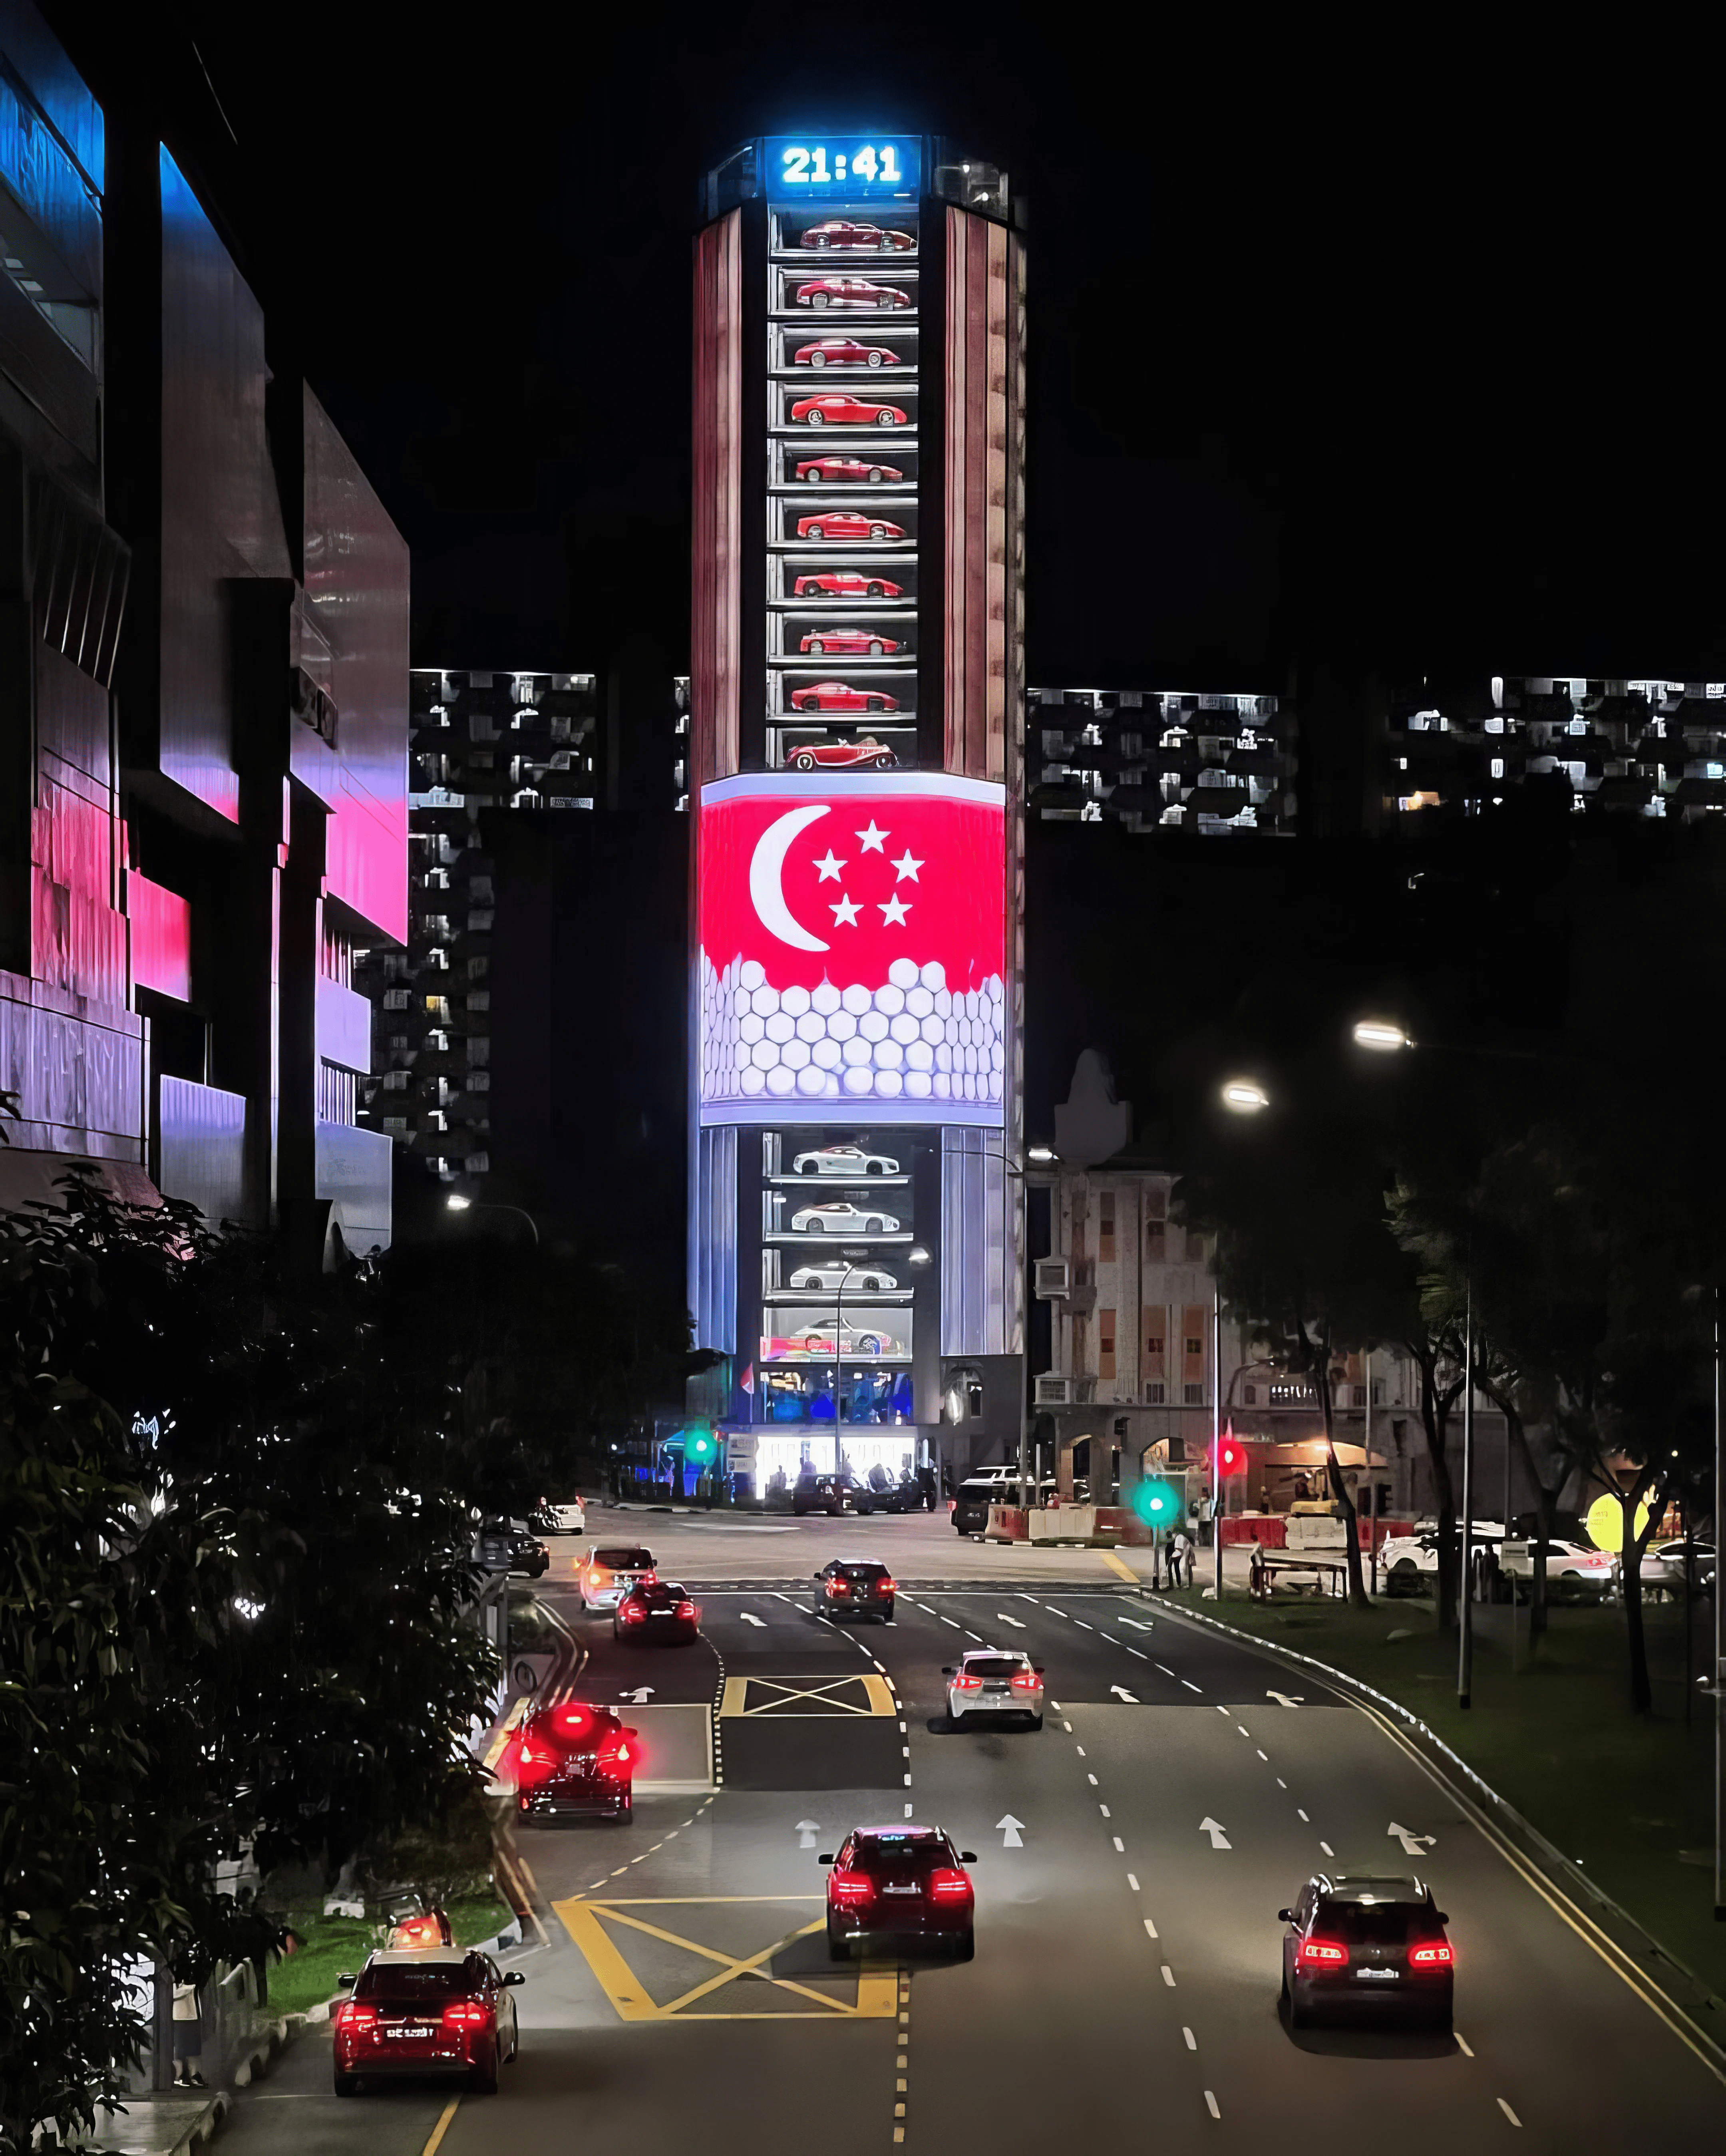
[[[618,1524],[595,1520],[606,1539]],[[241,2104],[235,2156],[422,2156],[433,2137],[442,2156],[1569,2156],[1700,2145],[1726,2119],[1726,2083],[1661,1996],[1394,1731],[1166,1615],[1118,1559],[955,1550],[944,1520],[750,1537],[636,1516],[625,1533],[705,1583],[705,1636],[614,1647],[582,1619],[560,1544],[539,1591],[582,1641],[573,1692],[718,1703],[722,1785],[638,1792],[627,1828],[519,1835],[537,1930],[509,1958],[528,1984],[500,2098],[338,2104],[328,2037],[308,2035]],[[812,1613],[808,1576],[840,1552],[894,1565],[892,1626]],[[1047,1667],[1041,1731],[948,1733],[942,1664],[976,1643]],[[817,1856],[905,1818],[978,1852],[976,1960],[834,1968]],[[1332,1865],[1431,1878],[1457,1949],[1454,2042],[1286,2029],[1276,1912]]]

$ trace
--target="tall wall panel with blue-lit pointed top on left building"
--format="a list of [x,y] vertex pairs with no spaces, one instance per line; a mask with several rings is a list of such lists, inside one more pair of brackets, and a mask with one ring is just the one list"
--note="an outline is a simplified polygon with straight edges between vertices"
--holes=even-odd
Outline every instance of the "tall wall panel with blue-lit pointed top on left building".
[[263,425],[263,308],[164,149],[162,770],[237,821],[222,584],[291,576]]

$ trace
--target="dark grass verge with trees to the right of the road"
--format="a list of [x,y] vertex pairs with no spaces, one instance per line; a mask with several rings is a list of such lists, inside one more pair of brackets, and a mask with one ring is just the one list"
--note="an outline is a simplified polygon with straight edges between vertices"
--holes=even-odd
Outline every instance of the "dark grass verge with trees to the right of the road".
[[[1713,1919],[1713,1701],[1694,1695],[1685,1727],[1676,1604],[1644,1613],[1655,1712],[1638,1716],[1620,1608],[1556,1608],[1541,1651],[1530,1654],[1528,1611],[1476,1606],[1474,1703],[1465,1710],[1457,1705],[1457,1634],[1437,1630],[1429,1602],[1383,1598],[1353,1611],[1332,1600],[1252,1602],[1230,1589],[1222,1606],[1200,1602],[1198,1589],[1168,1600],[1388,1692],[1726,1996],[1726,1923]],[[1707,1623],[1700,1606],[1698,1673]]]

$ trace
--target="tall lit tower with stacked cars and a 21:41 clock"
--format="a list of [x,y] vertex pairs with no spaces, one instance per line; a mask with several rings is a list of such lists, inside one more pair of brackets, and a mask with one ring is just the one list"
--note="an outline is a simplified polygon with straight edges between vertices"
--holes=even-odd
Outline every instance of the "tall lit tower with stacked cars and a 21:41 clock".
[[730,1464],[1024,1421],[1024,244],[935,136],[702,181],[690,1309]]

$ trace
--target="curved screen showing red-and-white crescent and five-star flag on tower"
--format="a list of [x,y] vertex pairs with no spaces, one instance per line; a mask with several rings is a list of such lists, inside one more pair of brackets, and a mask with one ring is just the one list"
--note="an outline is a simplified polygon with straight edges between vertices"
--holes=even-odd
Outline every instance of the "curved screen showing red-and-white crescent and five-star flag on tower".
[[1006,793],[720,778],[700,802],[705,1123],[1002,1121]]

